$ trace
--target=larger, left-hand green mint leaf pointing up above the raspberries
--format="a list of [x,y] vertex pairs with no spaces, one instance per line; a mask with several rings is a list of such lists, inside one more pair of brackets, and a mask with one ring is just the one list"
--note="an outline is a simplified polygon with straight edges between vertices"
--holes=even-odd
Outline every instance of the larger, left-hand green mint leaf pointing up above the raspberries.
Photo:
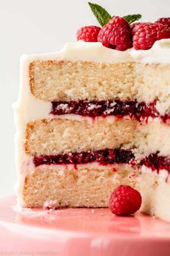
[[103,7],[99,6],[99,4],[92,4],[89,2],[88,4],[102,27],[106,25],[107,22],[109,22],[109,20],[112,18],[112,16]]

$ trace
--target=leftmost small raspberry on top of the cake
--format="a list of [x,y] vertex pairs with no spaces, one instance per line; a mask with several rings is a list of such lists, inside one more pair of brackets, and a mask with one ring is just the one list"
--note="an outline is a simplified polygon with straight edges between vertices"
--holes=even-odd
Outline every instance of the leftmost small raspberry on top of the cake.
[[77,40],[84,40],[86,42],[97,42],[97,36],[99,35],[100,27],[86,26],[81,27],[77,31]]

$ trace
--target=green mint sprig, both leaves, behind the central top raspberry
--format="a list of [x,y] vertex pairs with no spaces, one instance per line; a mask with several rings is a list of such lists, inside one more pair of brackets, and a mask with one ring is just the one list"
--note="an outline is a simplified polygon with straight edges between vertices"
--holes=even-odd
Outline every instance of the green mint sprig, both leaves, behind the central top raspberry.
[[[102,27],[106,25],[109,20],[112,19],[112,17],[114,17],[111,16],[109,12],[107,12],[107,10],[101,7],[99,4],[92,4],[90,2],[88,2],[88,4],[91,8],[91,11],[94,13],[94,16],[97,17],[97,20]],[[140,20],[141,17],[141,14],[129,14],[125,15],[123,18],[127,20],[129,24],[131,24],[137,20]]]

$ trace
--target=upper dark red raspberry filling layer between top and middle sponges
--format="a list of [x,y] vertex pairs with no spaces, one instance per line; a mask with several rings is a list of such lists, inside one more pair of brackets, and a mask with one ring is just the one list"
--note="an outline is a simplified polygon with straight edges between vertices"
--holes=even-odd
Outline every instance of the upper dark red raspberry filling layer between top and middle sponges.
[[138,121],[148,117],[158,117],[166,122],[170,114],[161,116],[156,110],[156,101],[152,103],[137,101],[53,101],[50,114],[78,114],[81,116],[130,116]]

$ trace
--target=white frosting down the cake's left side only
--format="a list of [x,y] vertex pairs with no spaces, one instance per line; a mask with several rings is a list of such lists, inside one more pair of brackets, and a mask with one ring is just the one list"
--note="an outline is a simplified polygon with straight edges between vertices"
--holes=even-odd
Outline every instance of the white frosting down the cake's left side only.
[[35,98],[30,91],[29,84],[29,61],[21,59],[20,65],[20,87],[19,98],[17,103],[14,103],[14,122],[17,127],[17,134],[15,136],[16,145],[16,166],[17,166],[17,185],[15,187],[19,199],[19,205],[24,205],[22,200],[24,177],[27,170],[27,166],[24,166],[28,162],[28,156],[24,153],[24,132],[28,121],[34,119],[48,118],[51,110],[51,103],[46,103]]

